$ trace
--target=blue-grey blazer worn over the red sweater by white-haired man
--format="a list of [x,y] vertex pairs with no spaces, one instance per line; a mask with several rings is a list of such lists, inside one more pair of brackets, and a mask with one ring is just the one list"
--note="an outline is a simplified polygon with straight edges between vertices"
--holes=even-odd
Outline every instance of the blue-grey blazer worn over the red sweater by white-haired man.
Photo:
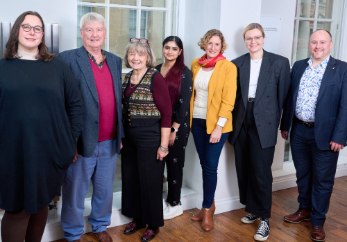
[[[114,139],[113,149],[120,153],[121,138],[124,137],[121,119],[121,58],[107,51],[104,53],[112,75],[117,102],[117,138]],[[90,60],[84,46],[64,51],[58,56],[64,59],[71,68],[81,91],[84,105],[83,129],[77,142],[77,150],[81,156],[90,157],[94,153],[99,138],[99,97]]]

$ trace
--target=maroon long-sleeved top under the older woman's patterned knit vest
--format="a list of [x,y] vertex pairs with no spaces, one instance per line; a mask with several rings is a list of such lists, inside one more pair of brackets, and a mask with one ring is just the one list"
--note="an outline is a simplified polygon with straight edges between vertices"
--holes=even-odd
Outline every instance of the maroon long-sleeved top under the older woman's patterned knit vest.
[[[130,77],[131,78],[131,77]],[[130,78],[128,85],[130,84]],[[153,77],[152,77],[153,78]],[[158,110],[160,111],[160,114],[162,115],[162,128],[171,128],[171,100],[170,100],[170,93],[169,89],[167,88],[167,83],[164,80],[164,77],[162,77],[162,74],[158,73],[154,76],[153,82],[153,100],[155,103],[155,106],[157,106]],[[133,86],[133,84],[131,84]],[[133,92],[133,90],[137,88],[137,85],[134,88],[130,88],[128,86],[128,89],[126,90],[126,98],[129,97],[129,95]]]

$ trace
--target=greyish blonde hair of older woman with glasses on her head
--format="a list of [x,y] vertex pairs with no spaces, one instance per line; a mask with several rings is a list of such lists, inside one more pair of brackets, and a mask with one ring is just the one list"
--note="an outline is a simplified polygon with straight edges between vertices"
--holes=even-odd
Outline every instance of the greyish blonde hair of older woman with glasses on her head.
[[140,41],[137,41],[134,43],[129,43],[128,46],[126,46],[124,64],[126,64],[126,67],[128,68],[131,68],[128,62],[128,53],[130,53],[131,51],[136,51],[137,53],[146,55],[146,67],[155,67],[155,63],[157,62],[157,60],[155,59],[155,55],[153,53],[153,49],[149,41],[147,41],[146,44],[141,44]]

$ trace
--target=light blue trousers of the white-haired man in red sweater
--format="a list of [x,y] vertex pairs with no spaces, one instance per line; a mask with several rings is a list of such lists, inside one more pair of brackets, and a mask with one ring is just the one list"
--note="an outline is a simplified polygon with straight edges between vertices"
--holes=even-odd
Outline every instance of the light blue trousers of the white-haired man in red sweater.
[[92,212],[88,221],[92,231],[105,231],[111,223],[113,189],[117,153],[112,140],[98,142],[92,157],[81,155],[67,169],[62,183],[62,229],[67,241],[80,239],[84,232],[85,196],[93,183]]

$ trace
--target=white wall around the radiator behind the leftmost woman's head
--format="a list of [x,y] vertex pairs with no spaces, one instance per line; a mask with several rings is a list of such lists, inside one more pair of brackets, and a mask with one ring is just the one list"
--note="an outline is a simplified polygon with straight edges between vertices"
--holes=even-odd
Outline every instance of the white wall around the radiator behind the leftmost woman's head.
[[0,21],[15,21],[26,11],[38,12],[46,24],[59,24],[60,52],[76,48],[77,0],[0,1]]

